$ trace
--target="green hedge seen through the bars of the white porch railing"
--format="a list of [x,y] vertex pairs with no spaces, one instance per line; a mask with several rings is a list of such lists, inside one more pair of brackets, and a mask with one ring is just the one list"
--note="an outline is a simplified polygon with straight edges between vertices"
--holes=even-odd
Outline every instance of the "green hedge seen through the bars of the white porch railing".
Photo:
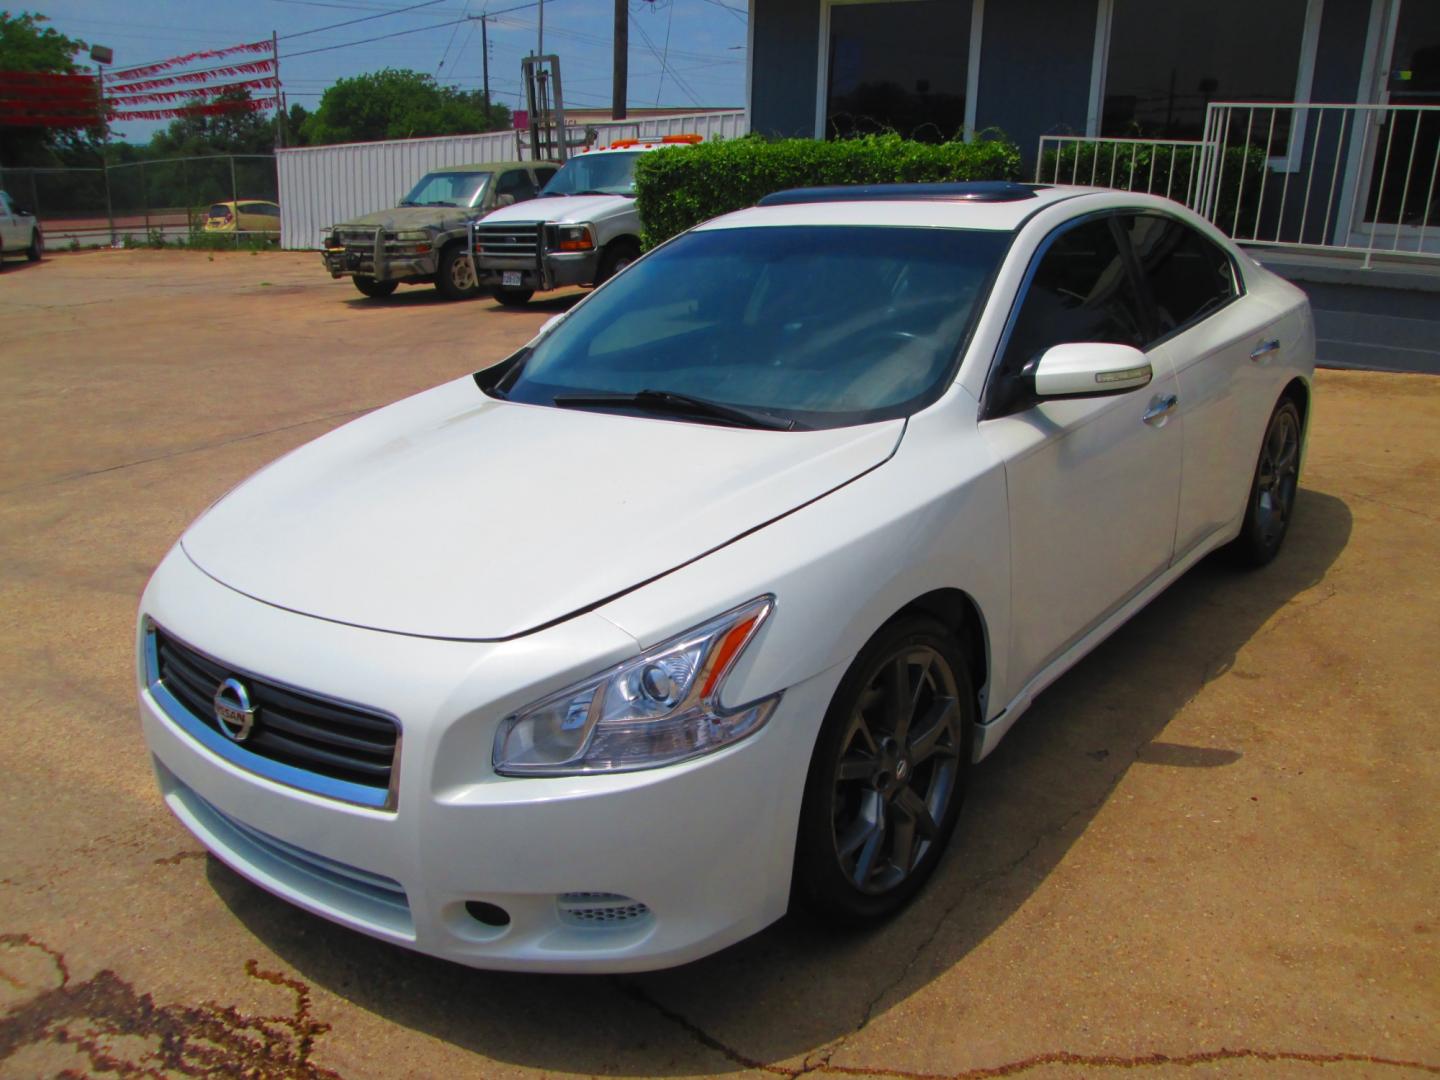
[[[1143,143],[1071,143],[1047,150],[1040,158],[1040,183],[1089,184],[1122,192],[1168,194],[1187,202],[1188,190],[1200,181],[1200,161],[1194,147],[1146,145]],[[1230,147],[1220,170],[1215,225],[1225,233],[1254,235],[1260,212],[1260,181],[1266,176],[1266,154],[1251,147]],[[1266,180],[1267,202],[1279,203],[1274,177]],[[1238,225],[1236,203],[1240,203]]]

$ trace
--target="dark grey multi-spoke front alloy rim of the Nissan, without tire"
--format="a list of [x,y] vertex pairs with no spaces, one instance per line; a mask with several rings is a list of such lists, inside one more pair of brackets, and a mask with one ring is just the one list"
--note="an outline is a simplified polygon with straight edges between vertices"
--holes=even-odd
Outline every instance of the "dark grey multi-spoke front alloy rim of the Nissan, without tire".
[[949,661],[927,645],[890,657],[860,694],[834,776],[832,838],[857,890],[910,877],[955,798],[963,744]]

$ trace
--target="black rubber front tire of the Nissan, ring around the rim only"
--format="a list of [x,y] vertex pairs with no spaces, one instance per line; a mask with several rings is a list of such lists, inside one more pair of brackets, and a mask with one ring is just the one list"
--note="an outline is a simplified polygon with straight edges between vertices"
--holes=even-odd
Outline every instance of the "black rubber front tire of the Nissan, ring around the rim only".
[[[896,888],[883,896],[857,890],[844,876],[835,858],[832,805],[835,796],[834,770],[844,749],[847,721],[855,698],[874,678],[883,661],[901,648],[927,645],[939,652],[955,674],[962,719],[962,747],[955,778],[955,792],[930,850],[920,864]],[[975,744],[976,698],[971,672],[965,664],[965,647],[950,631],[924,616],[896,619],[883,626],[845,671],[831,698],[819,737],[805,778],[799,828],[795,838],[795,874],[791,899],[825,922],[842,926],[865,926],[880,922],[904,907],[935,873],[949,845],[950,835],[965,802]]]

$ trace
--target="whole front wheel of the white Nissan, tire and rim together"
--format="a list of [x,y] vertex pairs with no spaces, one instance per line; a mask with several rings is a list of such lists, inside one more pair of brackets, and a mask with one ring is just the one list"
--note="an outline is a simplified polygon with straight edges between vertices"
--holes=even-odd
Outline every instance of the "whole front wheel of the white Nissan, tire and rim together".
[[831,923],[873,924],[935,873],[973,746],[965,655],[950,631],[916,616],[883,626],[850,665],[805,779],[792,886],[801,907]]

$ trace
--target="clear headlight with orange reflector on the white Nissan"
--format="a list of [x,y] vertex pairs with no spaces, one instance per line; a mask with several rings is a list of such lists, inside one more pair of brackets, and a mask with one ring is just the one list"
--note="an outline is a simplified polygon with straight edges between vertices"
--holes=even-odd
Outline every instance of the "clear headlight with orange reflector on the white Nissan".
[[505,717],[495,732],[495,772],[654,769],[753,734],[779,694],[726,710],[720,688],[773,606],[773,596],[760,596]]

